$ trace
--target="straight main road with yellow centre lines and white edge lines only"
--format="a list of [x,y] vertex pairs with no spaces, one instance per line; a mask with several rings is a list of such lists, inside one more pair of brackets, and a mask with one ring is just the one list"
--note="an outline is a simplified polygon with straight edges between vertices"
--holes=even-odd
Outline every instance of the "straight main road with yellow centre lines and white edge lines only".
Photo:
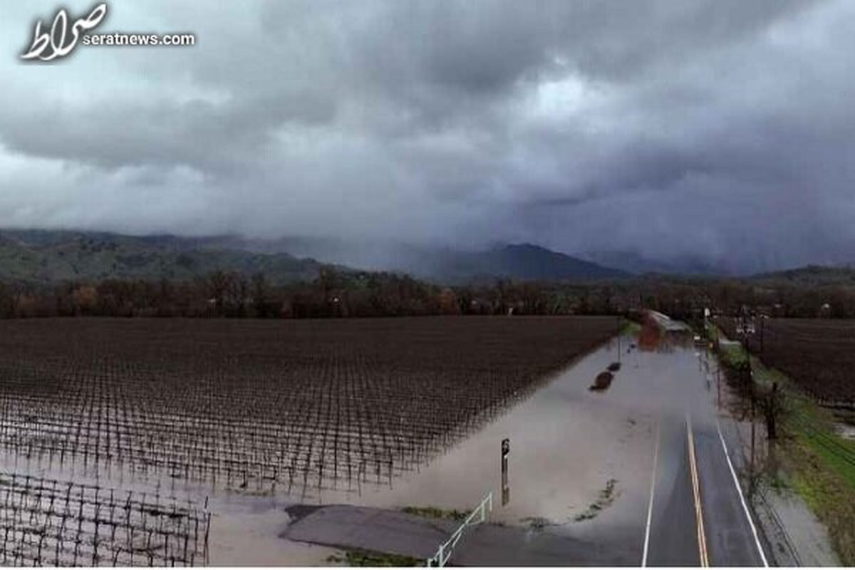
[[767,567],[722,433],[715,380],[698,358],[698,372],[681,380],[683,405],[659,421],[642,564]]

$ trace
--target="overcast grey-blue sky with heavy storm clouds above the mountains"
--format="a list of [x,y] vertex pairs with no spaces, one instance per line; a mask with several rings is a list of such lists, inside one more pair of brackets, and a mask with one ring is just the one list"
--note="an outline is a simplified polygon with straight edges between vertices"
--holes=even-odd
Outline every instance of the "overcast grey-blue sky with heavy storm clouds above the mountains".
[[851,0],[108,6],[197,45],[4,2],[0,226],[855,261]]

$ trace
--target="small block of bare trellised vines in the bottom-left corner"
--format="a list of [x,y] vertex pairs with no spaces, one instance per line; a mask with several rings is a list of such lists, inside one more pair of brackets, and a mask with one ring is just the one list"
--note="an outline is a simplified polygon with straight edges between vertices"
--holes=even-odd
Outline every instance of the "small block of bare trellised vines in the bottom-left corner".
[[209,515],[188,499],[0,473],[3,566],[194,566]]

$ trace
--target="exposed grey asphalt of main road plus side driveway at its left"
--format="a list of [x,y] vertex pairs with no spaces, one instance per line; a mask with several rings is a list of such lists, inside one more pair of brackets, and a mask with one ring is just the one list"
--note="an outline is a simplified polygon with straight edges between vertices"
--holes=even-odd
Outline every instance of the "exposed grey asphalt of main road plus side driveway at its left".
[[[716,424],[663,418],[643,553],[637,532],[591,541],[521,526],[475,526],[455,550],[457,566],[761,567],[760,543],[734,483]],[[653,482],[653,481],[652,481]],[[294,508],[284,538],[427,559],[459,525],[392,509]],[[631,531],[631,529],[628,529]]]

